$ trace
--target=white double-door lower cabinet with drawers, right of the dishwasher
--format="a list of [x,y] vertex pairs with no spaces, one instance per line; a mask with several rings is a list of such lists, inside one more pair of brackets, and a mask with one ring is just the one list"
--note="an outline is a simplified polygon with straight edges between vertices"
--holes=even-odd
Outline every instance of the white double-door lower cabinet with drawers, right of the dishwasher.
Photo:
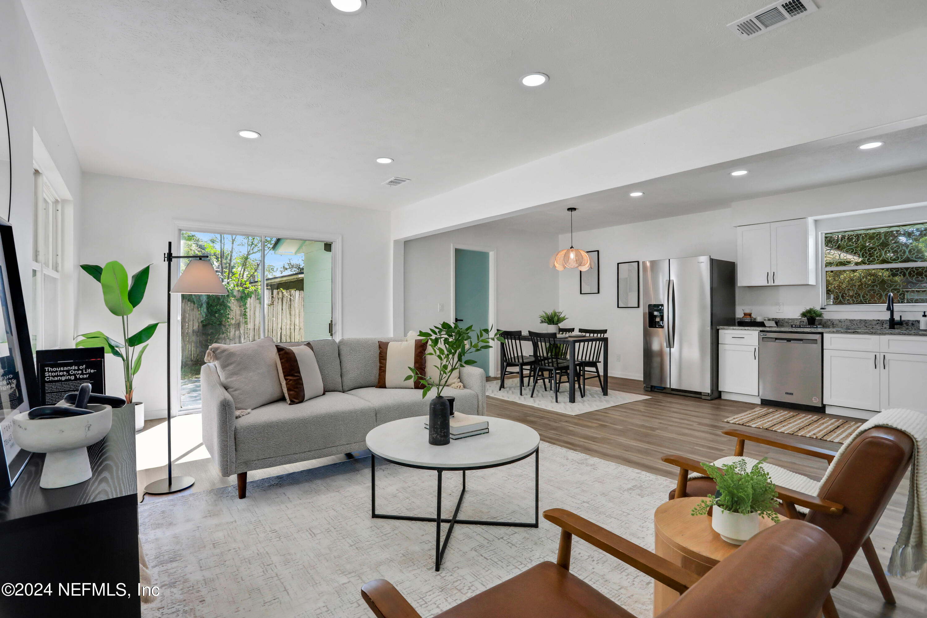
[[[824,403],[876,412],[891,408],[927,412],[927,354],[877,351],[886,347],[922,351],[927,338],[875,336],[880,340],[877,348],[873,335],[824,335]],[[872,351],[863,351],[867,348]]]

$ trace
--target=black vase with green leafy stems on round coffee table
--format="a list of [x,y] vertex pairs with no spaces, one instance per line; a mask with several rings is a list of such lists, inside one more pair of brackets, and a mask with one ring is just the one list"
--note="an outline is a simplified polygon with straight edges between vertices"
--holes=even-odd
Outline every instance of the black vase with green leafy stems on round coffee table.
[[[414,367],[409,368],[406,380],[421,381],[425,388],[422,398],[428,396],[432,389],[437,391],[437,397],[428,404],[428,444],[443,446],[451,444],[451,405],[442,395],[451,379],[451,374],[464,365],[475,365],[476,360],[464,359],[467,354],[492,347],[490,342],[502,340],[501,331],[493,331],[492,327],[481,328],[474,332],[473,325],[458,326],[451,322],[441,322],[428,331],[419,331],[418,336],[425,339],[428,354],[434,355],[438,362],[438,379],[420,373]],[[494,333],[491,334],[490,333]],[[427,373],[427,371],[425,372]]]

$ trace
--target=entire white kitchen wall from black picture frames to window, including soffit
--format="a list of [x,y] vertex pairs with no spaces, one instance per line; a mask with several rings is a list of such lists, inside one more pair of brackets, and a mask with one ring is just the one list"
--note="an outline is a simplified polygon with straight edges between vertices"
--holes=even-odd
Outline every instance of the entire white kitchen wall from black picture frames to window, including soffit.
[[[576,233],[576,246],[600,251],[601,293],[580,296],[578,271],[561,273],[560,309],[570,318],[565,326],[607,328],[611,346],[609,372],[640,379],[642,309],[616,308],[616,262],[697,255],[736,261],[735,225],[802,217],[815,219],[818,233],[898,225],[927,221],[927,205],[910,206],[924,201],[927,172],[921,171],[772,195],[712,212]],[[568,242],[567,235],[560,237],[561,245]],[[738,287],[738,315],[743,309],[753,309],[756,317],[796,318],[802,309],[820,307],[820,284],[819,279],[816,285]],[[776,310],[778,303],[783,304],[782,312]],[[895,313],[913,319],[924,309],[927,307],[899,306]],[[831,308],[825,310],[825,317],[887,320],[888,315],[881,307]],[[616,358],[619,354],[620,361]]]

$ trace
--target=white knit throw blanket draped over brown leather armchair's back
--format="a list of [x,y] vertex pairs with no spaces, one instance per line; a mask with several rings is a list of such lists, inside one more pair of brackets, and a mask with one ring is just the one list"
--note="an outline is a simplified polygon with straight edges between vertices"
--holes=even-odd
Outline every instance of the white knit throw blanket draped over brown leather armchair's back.
[[923,568],[927,562],[927,414],[904,408],[893,408],[876,414],[844,442],[844,446],[837,451],[837,456],[833,458],[831,466],[821,479],[820,485],[823,486],[827,481],[844,451],[860,434],[872,427],[891,427],[905,432],[914,440],[908,506],[905,508],[898,540],[892,548],[892,557],[888,561],[888,574],[900,577],[920,571],[917,586],[927,587],[927,568]]

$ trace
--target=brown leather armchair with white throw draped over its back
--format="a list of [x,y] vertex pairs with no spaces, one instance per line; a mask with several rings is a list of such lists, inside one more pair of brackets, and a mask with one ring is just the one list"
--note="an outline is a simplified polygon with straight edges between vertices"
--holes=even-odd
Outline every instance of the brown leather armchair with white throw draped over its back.
[[[836,451],[808,447],[786,437],[761,435],[747,430],[727,430],[721,433],[737,438],[735,456],[743,455],[745,442],[791,450],[827,460],[828,463],[837,455]],[[892,594],[888,578],[872,546],[870,534],[908,470],[913,451],[914,441],[908,434],[889,427],[873,427],[859,435],[847,448],[827,482],[819,488],[817,496],[776,487],[782,501],[782,514],[790,519],[804,519],[814,523],[827,531],[840,545],[844,560],[832,587],[840,584],[853,557],[862,548],[883,599],[886,603],[895,603],[895,595]],[[669,499],[715,494],[717,487],[710,478],[689,480],[690,472],[705,473],[700,462],[680,455],[665,455],[661,459],[679,466],[679,480],[676,489],[669,492]],[[795,505],[805,507],[807,514],[800,514]],[[838,618],[830,595],[824,603],[824,615],[827,618]]]

